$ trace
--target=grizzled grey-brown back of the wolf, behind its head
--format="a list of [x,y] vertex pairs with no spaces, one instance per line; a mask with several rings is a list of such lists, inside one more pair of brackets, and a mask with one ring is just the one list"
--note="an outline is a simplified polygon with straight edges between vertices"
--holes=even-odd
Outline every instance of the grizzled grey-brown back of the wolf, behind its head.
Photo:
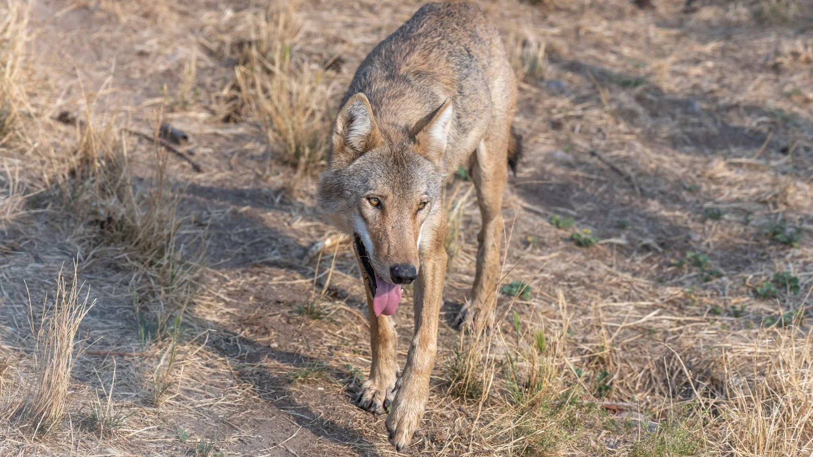
[[354,94],[367,95],[382,135],[394,142],[452,98],[445,162],[454,170],[489,128],[495,98],[511,91],[511,65],[485,15],[468,3],[428,3],[367,55],[342,105]]

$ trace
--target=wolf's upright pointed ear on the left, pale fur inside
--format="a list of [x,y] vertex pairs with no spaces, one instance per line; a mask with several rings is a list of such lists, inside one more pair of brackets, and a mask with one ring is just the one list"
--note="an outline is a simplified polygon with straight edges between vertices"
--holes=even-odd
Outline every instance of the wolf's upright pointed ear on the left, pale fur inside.
[[381,133],[367,96],[350,97],[336,117],[330,168],[344,168],[365,152],[381,145]]

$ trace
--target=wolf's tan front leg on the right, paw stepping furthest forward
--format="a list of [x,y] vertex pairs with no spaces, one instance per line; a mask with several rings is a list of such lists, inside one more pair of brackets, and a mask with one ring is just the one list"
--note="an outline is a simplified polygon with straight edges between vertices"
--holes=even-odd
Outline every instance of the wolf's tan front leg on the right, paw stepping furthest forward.
[[429,375],[437,355],[437,316],[443,298],[446,274],[446,217],[437,218],[432,236],[421,247],[420,272],[415,281],[415,336],[412,337],[406,366],[395,391],[393,408],[387,416],[389,442],[399,452],[409,446],[424,416],[429,396]]

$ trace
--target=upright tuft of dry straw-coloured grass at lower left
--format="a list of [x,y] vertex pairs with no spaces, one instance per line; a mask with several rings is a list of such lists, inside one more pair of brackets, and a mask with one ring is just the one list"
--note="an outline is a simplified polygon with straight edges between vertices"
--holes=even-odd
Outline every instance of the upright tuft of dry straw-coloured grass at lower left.
[[34,310],[30,308],[32,331],[35,335],[33,352],[34,379],[25,394],[24,403],[15,416],[33,434],[45,434],[58,424],[65,413],[67,389],[71,381],[71,370],[76,361],[74,346],[79,324],[95,300],[88,304],[90,290],[85,298],[80,297],[84,285],[77,285],[77,266],[70,286],[62,271],[57,277],[57,289],[53,304],[48,306],[48,297],[43,305],[42,315],[35,329]]

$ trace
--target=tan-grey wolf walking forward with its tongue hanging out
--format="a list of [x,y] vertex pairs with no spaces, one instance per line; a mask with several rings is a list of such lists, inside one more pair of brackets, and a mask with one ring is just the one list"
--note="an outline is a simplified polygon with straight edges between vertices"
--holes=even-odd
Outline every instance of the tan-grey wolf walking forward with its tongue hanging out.
[[[391,407],[385,424],[398,451],[427,403],[446,273],[442,188],[464,163],[482,216],[467,323],[497,285],[502,194],[520,158],[516,92],[497,28],[471,4],[437,2],[367,55],[341,101],[317,209],[350,235],[367,291],[372,367],[357,404]],[[398,376],[389,316],[413,282],[415,335]]]

